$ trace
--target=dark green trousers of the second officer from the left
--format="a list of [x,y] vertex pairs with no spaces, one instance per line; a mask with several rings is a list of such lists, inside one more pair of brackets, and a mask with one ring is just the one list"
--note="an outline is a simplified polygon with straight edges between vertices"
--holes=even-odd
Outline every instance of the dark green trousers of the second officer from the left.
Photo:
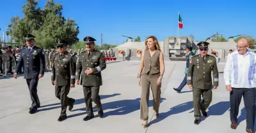
[[61,102],[61,115],[66,115],[67,106],[72,104],[72,99],[67,97],[70,90],[70,84],[66,86],[55,85],[55,96],[60,99]]

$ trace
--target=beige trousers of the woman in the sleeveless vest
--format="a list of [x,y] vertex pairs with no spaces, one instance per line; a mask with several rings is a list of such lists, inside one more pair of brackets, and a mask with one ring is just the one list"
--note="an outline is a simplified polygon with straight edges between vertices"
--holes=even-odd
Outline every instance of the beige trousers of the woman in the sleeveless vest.
[[161,99],[161,84],[156,85],[159,74],[142,74],[141,76],[141,102],[140,102],[140,118],[148,120],[148,100],[149,88],[153,94],[153,109],[159,113],[159,105]]

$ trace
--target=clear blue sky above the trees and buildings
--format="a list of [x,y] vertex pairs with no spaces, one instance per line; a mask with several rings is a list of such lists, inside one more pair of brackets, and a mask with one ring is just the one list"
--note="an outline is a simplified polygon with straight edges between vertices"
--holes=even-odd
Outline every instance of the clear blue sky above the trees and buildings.
[[[47,0],[40,0],[44,6]],[[55,0],[63,4],[63,16],[74,18],[79,24],[78,38],[92,36],[100,44],[100,34],[104,34],[103,43],[120,45],[124,36],[154,35],[159,41],[165,37],[177,36],[178,12],[184,28],[179,36],[193,34],[195,40],[204,40],[219,32],[226,38],[237,34],[248,34],[256,38],[256,1],[255,0],[214,0],[214,1],[173,1],[173,0]],[[8,0],[0,5],[1,38],[10,24],[10,18],[22,17],[22,4],[26,0]]]

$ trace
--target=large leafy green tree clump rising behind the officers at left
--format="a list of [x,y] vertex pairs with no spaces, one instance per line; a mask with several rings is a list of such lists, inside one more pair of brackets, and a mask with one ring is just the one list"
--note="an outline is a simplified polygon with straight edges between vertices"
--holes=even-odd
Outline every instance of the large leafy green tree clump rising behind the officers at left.
[[24,17],[12,17],[11,24],[8,25],[8,31],[16,43],[24,44],[24,34],[27,33],[37,34],[36,38],[40,39],[36,39],[36,44],[42,44],[44,48],[52,48],[59,38],[66,39],[68,45],[79,41],[77,38],[79,26],[75,20],[62,16],[63,4],[48,0],[44,9],[41,10],[38,7],[38,1],[26,1],[27,3],[22,6]]

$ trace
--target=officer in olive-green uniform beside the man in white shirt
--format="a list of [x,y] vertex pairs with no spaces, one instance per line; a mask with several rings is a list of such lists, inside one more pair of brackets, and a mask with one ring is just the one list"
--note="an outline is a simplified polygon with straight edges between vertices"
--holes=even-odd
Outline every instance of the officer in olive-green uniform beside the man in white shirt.
[[[200,54],[195,55],[191,58],[187,84],[189,88],[193,89],[193,107],[195,109],[195,124],[200,123],[202,115],[207,116],[206,109],[209,107],[212,101],[212,77],[211,71],[213,72],[213,88],[218,87],[219,74],[218,67],[216,64],[215,57],[208,55],[209,43],[202,41],[198,43]],[[203,102],[201,102],[201,95]],[[201,112],[202,115],[201,115]]]

